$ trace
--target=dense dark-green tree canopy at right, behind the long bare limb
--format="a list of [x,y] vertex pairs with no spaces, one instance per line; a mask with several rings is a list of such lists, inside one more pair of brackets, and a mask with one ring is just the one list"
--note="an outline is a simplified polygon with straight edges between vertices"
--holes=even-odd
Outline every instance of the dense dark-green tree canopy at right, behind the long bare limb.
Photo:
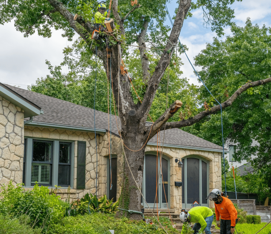
[[[231,31],[232,36],[225,41],[214,38],[213,44],[208,44],[195,58],[196,65],[203,68],[199,71],[201,79],[219,102],[227,100],[243,83],[271,74],[271,28],[253,26],[248,19],[245,27],[234,25]],[[249,161],[256,155],[253,162],[257,168],[271,161],[270,90],[270,84],[250,88],[222,113],[224,139],[236,144],[235,159]],[[204,87],[200,93],[202,104],[215,104]],[[219,126],[221,117],[215,114],[192,128],[198,136],[222,145]]]

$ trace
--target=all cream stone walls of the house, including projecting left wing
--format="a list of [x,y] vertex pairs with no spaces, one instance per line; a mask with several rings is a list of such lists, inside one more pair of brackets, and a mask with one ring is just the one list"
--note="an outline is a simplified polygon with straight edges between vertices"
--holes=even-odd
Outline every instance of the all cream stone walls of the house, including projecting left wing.
[[[72,200],[83,197],[86,193],[96,193],[97,174],[97,195],[107,193],[107,163],[109,155],[109,137],[112,140],[111,153],[117,157],[117,198],[121,194],[122,173],[124,167],[124,156],[121,139],[118,136],[97,134],[98,159],[96,160],[95,134],[76,130],[63,130],[43,127],[23,126],[23,110],[14,106],[7,100],[0,97],[0,184],[22,182],[23,174],[23,149],[24,137],[43,138],[48,140],[69,140],[74,141],[74,171],[73,188],[58,189],[57,194],[63,200]],[[77,175],[77,141],[86,142],[86,189],[76,189]],[[156,152],[157,146],[146,146],[146,152]],[[163,148],[163,154],[170,158],[170,208],[181,209],[182,189],[174,186],[174,181],[181,181],[181,170],[175,163],[175,158],[182,159],[188,155],[198,155],[209,161],[209,189],[221,189],[221,153],[210,151],[189,150],[180,148]],[[96,167],[98,165],[98,172]],[[210,206],[213,206],[210,203]],[[178,211],[179,212],[179,211]]]

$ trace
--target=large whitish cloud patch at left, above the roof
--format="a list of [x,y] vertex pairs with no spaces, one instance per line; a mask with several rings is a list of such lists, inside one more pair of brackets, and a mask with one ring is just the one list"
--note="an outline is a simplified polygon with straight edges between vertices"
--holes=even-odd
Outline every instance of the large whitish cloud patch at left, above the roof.
[[0,82],[20,85],[22,88],[49,74],[46,59],[53,66],[59,65],[64,57],[64,47],[70,44],[61,37],[61,31],[53,31],[51,38],[37,34],[24,38],[13,23],[0,25],[0,31]]

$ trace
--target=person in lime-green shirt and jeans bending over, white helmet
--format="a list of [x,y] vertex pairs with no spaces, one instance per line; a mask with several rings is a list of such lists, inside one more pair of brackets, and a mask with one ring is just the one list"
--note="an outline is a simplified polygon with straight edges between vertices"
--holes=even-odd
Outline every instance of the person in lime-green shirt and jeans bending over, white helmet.
[[180,213],[182,223],[195,223],[193,230],[194,234],[199,231],[204,231],[206,234],[211,234],[211,226],[214,221],[213,211],[205,206],[196,206],[189,211],[183,209]]

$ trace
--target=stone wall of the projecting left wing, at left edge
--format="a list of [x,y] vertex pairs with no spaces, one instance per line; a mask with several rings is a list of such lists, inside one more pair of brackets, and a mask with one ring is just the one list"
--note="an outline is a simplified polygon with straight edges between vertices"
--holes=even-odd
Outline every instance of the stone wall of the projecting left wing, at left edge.
[[22,182],[23,110],[0,96],[0,185]]

